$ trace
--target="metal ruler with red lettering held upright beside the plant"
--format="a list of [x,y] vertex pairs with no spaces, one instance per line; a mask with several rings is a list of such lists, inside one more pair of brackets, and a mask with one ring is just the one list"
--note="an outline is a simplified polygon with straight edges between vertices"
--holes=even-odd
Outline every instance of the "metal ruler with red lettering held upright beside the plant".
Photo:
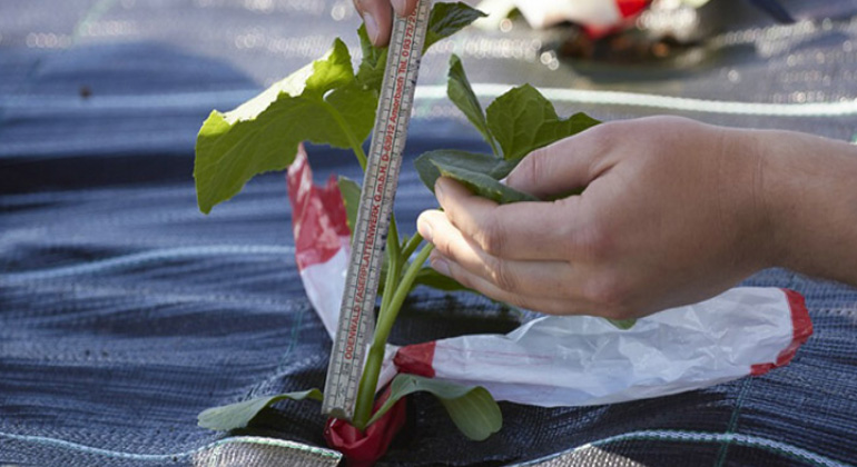
[[393,26],[345,292],[325,382],[322,411],[335,418],[351,420],[354,416],[366,345],[374,328],[373,314],[383,250],[402,167],[430,7],[428,0],[421,0],[413,14],[396,18]]

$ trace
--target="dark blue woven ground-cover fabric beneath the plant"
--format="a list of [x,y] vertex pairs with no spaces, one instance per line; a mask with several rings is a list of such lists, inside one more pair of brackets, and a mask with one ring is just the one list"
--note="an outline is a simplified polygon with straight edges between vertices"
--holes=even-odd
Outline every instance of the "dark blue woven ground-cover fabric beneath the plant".
[[[402,230],[412,232],[433,206],[413,158],[483,147],[435,98],[450,51],[485,99],[490,85],[531,82],[554,90],[562,115],[677,113],[853,139],[857,112],[835,105],[857,98],[857,4],[784,4],[801,22],[772,27],[732,3],[721,14],[735,22],[688,51],[690,66],[553,70],[541,54],[552,33],[520,28],[471,30],[439,46],[421,71],[396,199]],[[351,2],[338,0],[0,6],[0,465],[296,465],[286,447],[257,441],[324,446],[314,403],[279,404],[255,429],[230,435],[253,435],[252,449],[223,447],[229,437],[196,427],[210,406],[322,387],[331,341],[294,264],[283,176],[255,179],[205,217],[194,198],[193,143],[211,108],[253,96],[336,34],[354,46],[356,24]],[[558,91],[569,89],[591,93]],[[634,96],[642,106],[628,105]],[[772,106],[801,102],[821,106],[800,117]],[[318,180],[359,177],[345,152],[309,153]],[[613,406],[502,404],[503,430],[480,444],[417,395],[382,465],[857,463],[857,290],[787,270],[747,284],[807,298],[815,336],[786,368]],[[504,332],[522,319],[479,297],[420,289],[393,340]]]

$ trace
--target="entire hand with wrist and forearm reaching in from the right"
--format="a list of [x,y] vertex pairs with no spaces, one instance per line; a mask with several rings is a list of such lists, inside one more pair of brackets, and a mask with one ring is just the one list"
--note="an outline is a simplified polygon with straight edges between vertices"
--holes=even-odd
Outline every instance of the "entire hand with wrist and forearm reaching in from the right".
[[529,155],[498,206],[440,178],[432,266],[500,301],[642,317],[784,266],[857,286],[857,148],[679,118],[602,123]]

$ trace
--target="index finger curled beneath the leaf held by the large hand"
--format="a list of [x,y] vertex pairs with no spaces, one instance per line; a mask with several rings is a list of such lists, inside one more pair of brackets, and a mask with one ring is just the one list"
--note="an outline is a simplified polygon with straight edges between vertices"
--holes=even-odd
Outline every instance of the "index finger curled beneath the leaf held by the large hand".
[[498,205],[445,177],[437,180],[435,195],[450,222],[491,256],[514,260],[571,257],[579,197]]

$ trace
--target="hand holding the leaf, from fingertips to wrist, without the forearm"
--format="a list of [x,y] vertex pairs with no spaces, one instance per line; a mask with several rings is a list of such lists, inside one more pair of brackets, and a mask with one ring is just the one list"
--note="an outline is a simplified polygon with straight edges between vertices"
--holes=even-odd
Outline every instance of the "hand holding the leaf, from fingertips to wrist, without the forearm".
[[498,206],[441,178],[423,212],[432,266],[522,308],[613,319],[709,298],[770,265],[764,161],[750,132],[680,118],[603,123],[529,155]]

